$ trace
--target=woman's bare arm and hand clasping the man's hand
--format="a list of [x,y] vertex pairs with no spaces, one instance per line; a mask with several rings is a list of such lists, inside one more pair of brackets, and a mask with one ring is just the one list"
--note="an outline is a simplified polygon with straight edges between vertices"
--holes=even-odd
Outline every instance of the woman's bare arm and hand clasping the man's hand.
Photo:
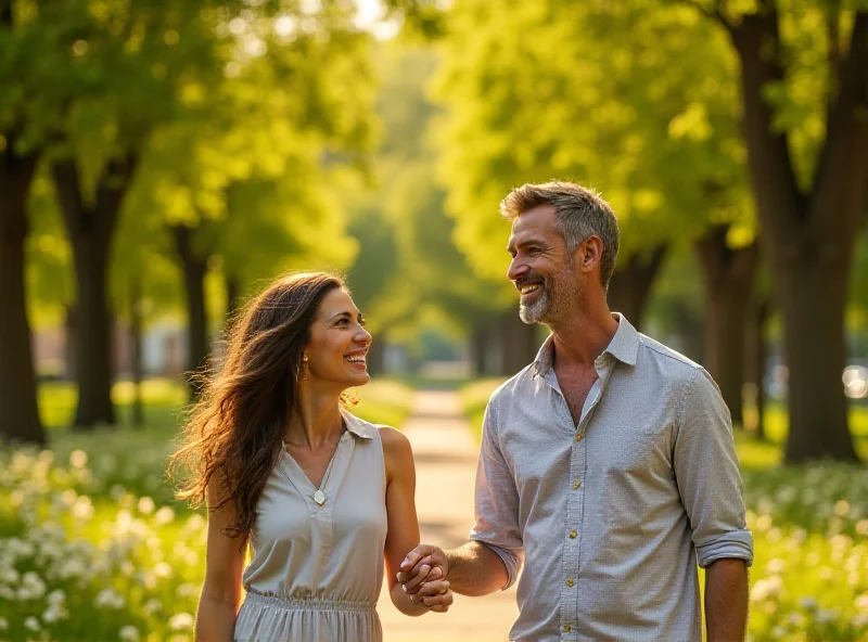
[[[419,544],[419,519],[416,515],[416,466],[410,441],[394,428],[380,428],[386,464],[386,535],[385,563],[390,595],[395,607],[406,615],[422,615],[427,611],[445,612],[452,603],[449,582],[438,577],[427,578],[413,603],[397,581],[400,563]],[[427,607],[422,599],[438,595],[437,604]]]

